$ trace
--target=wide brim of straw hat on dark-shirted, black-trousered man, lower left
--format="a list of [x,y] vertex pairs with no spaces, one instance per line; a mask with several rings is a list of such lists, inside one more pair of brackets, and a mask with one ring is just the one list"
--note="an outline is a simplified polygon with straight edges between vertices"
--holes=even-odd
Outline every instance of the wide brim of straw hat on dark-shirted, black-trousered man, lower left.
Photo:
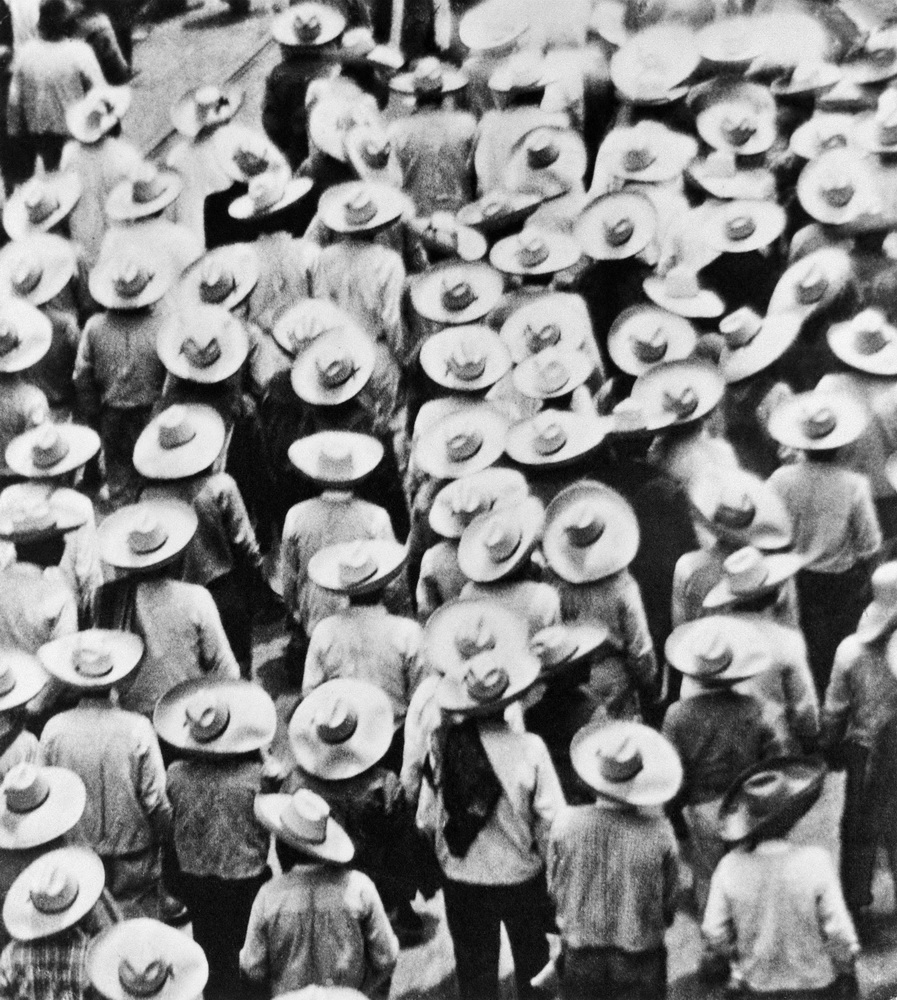
[[[200,693],[213,694],[226,705],[230,718],[212,740],[194,739],[187,724],[187,706]],[[167,691],[153,709],[153,726],[160,740],[197,757],[232,757],[268,746],[277,731],[277,710],[268,693],[251,681],[208,677],[182,681]]]

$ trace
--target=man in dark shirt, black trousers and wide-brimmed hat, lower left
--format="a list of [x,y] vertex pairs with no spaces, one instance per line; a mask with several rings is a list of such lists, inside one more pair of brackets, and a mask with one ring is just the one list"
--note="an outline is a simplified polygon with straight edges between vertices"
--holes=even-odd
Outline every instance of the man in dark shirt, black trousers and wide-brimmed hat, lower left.
[[249,912],[270,878],[270,837],[255,797],[285,773],[268,754],[274,703],[249,681],[183,681],[157,702],[153,725],[176,759],[168,765],[171,838],[167,882],[190,911],[209,960],[208,995],[239,989]]

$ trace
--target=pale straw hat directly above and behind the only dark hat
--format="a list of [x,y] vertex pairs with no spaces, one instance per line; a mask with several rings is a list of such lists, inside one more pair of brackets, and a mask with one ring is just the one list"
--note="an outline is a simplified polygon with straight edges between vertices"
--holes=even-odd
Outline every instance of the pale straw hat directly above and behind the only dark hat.
[[734,615],[710,615],[673,630],[667,661],[702,684],[738,684],[773,665],[773,644],[760,623]]

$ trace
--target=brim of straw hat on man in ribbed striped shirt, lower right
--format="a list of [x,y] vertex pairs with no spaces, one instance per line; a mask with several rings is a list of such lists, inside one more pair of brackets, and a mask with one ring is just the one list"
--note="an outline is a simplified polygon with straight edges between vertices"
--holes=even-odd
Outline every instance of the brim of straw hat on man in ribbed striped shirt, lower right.
[[[601,774],[598,744],[609,736],[631,739],[642,757],[642,769],[629,781],[608,781]],[[573,737],[570,760],[579,777],[604,798],[631,806],[669,802],[682,785],[682,764],[673,745],[660,733],[637,722],[589,725]]]

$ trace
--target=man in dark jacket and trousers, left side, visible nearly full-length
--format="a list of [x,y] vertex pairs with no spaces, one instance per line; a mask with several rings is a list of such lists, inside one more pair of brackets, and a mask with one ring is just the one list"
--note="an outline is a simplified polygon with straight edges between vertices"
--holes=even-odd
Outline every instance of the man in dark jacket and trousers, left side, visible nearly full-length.
[[165,382],[156,338],[174,322],[166,298],[174,279],[171,262],[151,244],[101,260],[90,275],[90,293],[104,311],[84,327],[74,382],[79,413],[100,435],[114,506],[137,497],[134,444]]

